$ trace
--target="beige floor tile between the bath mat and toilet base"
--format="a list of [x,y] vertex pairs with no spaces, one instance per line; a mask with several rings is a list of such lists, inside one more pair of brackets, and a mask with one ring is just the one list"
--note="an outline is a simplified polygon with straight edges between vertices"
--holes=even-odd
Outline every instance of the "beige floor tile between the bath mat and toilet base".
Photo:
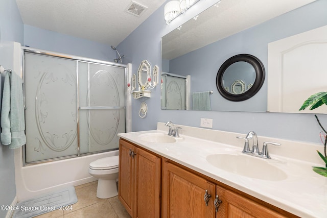
[[72,210],[65,210],[64,214],[87,207],[89,205],[105,201],[105,199],[97,198],[97,182],[87,183],[89,185],[76,186],[77,203],[72,205]]

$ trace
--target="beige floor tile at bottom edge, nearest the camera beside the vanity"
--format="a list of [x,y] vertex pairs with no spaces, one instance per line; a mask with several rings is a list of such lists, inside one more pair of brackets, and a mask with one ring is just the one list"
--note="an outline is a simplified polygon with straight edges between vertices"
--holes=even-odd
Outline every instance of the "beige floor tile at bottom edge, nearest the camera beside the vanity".
[[119,218],[108,201],[101,201],[82,209],[67,213],[65,218]]

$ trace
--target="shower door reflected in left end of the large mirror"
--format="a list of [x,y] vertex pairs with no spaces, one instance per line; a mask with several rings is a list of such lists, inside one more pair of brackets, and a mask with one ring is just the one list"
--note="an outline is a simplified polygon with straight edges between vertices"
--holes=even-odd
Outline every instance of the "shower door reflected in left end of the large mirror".
[[161,73],[161,109],[186,110],[190,93],[186,91],[186,77]]

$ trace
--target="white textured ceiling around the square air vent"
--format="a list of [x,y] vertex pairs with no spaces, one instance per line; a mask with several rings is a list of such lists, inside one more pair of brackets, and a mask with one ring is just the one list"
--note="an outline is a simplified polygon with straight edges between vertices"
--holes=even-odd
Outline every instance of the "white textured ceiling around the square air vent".
[[131,0],[16,0],[25,25],[114,46],[165,0],[134,2],[147,7],[140,16],[125,11]]

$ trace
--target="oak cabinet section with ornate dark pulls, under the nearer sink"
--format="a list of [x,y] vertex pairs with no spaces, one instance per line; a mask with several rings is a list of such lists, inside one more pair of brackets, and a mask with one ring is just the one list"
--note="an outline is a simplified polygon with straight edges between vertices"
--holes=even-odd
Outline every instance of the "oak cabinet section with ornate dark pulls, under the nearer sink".
[[[227,187],[162,158],[161,217],[297,217]],[[207,206],[204,201],[206,190],[211,196]],[[215,201],[219,205],[218,211]]]

